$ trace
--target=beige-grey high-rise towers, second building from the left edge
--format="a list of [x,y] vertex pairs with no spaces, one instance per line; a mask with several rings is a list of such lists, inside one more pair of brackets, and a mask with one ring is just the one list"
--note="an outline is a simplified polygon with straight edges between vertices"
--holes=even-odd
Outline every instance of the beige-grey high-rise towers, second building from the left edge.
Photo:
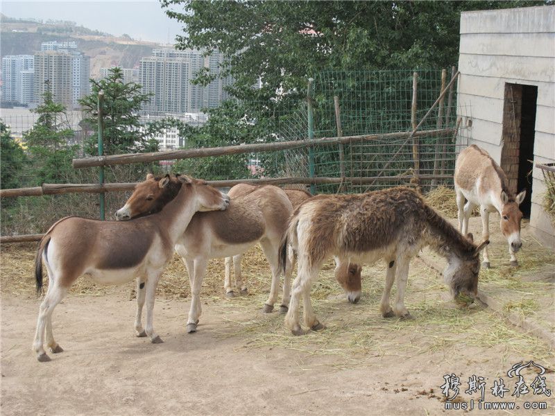
[[44,42],[42,49],[35,54],[35,99],[41,101],[49,81],[54,101],[68,109],[79,107],[79,98],[90,92],[90,58],[75,42]]

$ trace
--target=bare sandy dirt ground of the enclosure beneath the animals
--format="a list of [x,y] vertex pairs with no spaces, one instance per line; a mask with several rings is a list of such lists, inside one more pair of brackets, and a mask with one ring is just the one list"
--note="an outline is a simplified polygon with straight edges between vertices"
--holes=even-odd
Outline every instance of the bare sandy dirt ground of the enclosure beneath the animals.
[[[545,266],[549,252],[542,253],[545,257],[536,257]],[[32,258],[33,250],[19,254]],[[301,337],[284,329],[283,315],[260,311],[269,286],[264,270],[264,291],[231,300],[203,295],[203,315],[194,334],[185,331],[189,300],[158,296],[154,324],[164,340],[158,345],[134,336],[130,286],[74,292],[53,315],[54,334],[65,352],[38,363],[31,343],[40,300],[28,295],[33,289],[31,263],[7,267],[7,257],[15,252],[5,250],[3,256],[2,415],[460,414],[445,410],[444,376],[459,378],[454,405],[473,405],[471,414],[555,413],[552,347],[484,306],[456,305],[436,267],[421,259],[411,264],[405,298],[413,320],[379,315],[382,264],[364,268],[364,294],[356,305],[345,300],[328,268],[315,284],[313,298],[327,329]],[[522,252],[524,265],[526,256]],[[504,270],[502,263],[508,259],[499,259],[494,270]],[[244,269],[248,267],[245,261]],[[527,270],[522,268],[519,273]],[[223,283],[223,270],[211,270],[207,285],[211,279]],[[537,268],[529,270],[533,274]],[[493,285],[496,275],[487,273]],[[507,273],[501,274],[504,279]],[[20,274],[28,276],[29,291],[23,294],[9,280]],[[552,298],[552,282],[542,284],[547,285],[543,293]],[[529,369],[522,372],[529,392],[518,399],[511,396],[517,379],[508,370],[529,361],[547,368],[543,376],[550,397],[533,394],[536,373]],[[515,408],[479,410],[479,390],[465,391],[472,376],[484,377],[485,402],[515,403]],[[504,398],[492,395],[499,378],[510,390]],[[544,404],[544,409],[525,409]]]

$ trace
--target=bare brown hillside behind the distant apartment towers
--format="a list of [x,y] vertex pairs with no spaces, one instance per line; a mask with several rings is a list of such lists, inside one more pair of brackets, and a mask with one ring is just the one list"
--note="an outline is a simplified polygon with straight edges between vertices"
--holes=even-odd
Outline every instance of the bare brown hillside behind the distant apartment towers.
[[155,42],[142,42],[127,35],[115,37],[108,33],[76,26],[71,21],[40,23],[1,16],[1,55],[33,55],[40,51],[42,42],[74,41],[78,49],[91,57],[91,77],[99,76],[100,69],[120,65],[133,68],[142,57],[151,55],[159,47]]

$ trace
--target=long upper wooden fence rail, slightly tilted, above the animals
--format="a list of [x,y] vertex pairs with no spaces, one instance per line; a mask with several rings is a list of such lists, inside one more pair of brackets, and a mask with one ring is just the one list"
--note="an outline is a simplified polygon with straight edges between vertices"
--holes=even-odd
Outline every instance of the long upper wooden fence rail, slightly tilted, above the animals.
[[[133,153],[126,155],[110,155],[102,157],[87,157],[85,159],[73,159],[73,166],[79,168],[92,168],[94,166],[112,166],[117,164],[156,162],[160,160],[188,159],[191,157],[207,157],[222,155],[239,155],[243,153],[271,152],[275,150],[287,150],[291,148],[309,148],[313,146],[330,146],[346,144],[357,141],[371,141],[376,139],[395,140],[405,137],[417,137],[425,135],[447,135],[452,134],[453,129],[422,130],[420,132],[393,132],[377,135],[360,135],[345,137],[324,137],[314,140],[279,141],[275,143],[241,144],[237,146],[221,146],[212,148],[194,148],[186,150],[167,150],[154,153]],[[411,136],[412,135],[412,136]]]

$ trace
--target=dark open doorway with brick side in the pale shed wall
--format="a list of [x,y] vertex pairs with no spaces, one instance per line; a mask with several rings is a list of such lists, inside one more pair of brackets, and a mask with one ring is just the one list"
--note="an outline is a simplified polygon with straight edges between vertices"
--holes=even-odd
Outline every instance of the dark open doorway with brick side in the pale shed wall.
[[537,98],[535,85],[505,84],[501,167],[511,191],[518,193],[526,189],[526,198],[520,204],[525,218],[530,217],[531,210]]

